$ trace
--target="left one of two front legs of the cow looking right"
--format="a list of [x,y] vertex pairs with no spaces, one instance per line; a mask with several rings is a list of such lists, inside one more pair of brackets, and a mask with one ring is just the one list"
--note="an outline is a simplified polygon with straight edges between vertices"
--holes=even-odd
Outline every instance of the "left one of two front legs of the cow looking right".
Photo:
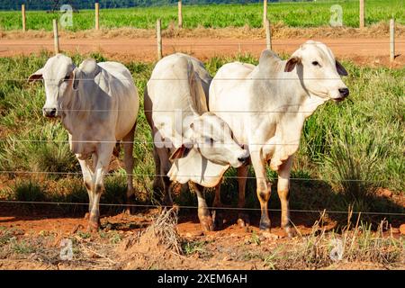
[[271,221],[268,217],[267,205],[270,199],[271,184],[267,181],[266,165],[261,157],[260,151],[251,151],[250,158],[252,160],[253,168],[255,169],[256,182],[257,182],[257,198],[260,202],[261,218],[260,229],[270,229]]

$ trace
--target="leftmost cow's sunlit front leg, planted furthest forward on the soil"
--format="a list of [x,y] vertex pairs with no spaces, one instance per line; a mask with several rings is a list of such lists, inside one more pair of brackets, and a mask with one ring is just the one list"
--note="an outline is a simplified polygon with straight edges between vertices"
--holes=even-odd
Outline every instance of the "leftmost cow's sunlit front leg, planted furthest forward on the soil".
[[97,230],[100,227],[100,197],[104,190],[104,182],[103,177],[108,172],[108,166],[110,165],[111,157],[112,157],[112,150],[114,148],[114,144],[112,145],[100,145],[97,149],[99,151],[97,162],[95,164],[94,169],[94,176],[93,176],[93,183],[94,183],[94,190],[93,190],[93,207],[92,211],[90,211],[90,217],[88,220],[88,229],[90,231]]

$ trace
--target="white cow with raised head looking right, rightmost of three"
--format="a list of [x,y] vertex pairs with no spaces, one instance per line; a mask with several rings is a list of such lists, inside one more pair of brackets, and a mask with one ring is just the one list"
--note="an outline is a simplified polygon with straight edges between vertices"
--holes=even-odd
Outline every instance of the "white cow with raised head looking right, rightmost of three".
[[[278,172],[277,191],[282,204],[282,226],[293,236],[289,216],[289,184],[293,154],[304,121],[322,103],[342,101],[349,94],[340,76],[345,68],[332,51],[307,41],[286,61],[263,51],[257,67],[239,62],[220,68],[210,87],[210,111],[229,124],[238,143],[247,145],[257,177],[261,229],[270,229],[267,202],[270,183],[266,162]],[[239,202],[245,205],[247,167],[238,168]],[[219,198],[219,195],[217,195]],[[243,224],[243,221],[242,221]]]

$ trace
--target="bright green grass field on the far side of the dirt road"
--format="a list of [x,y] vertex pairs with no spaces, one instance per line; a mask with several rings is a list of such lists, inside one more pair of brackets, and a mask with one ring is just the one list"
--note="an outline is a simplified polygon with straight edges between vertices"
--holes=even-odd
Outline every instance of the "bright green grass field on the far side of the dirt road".
[[[337,0],[317,1],[317,3],[272,3],[268,6],[268,18],[271,23],[284,23],[291,27],[328,26],[330,6],[340,4],[343,8],[343,23],[348,27],[358,27],[358,1]],[[261,27],[262,4],[211,4],[184,5],[184,28],[202,27]],[[405,23],[403,1],[367,0],[365,4],[365,23],[388,22],[392,14],[398,23]],[[30,30],[52,29],[52,19],[59,14],[28,11],[27,27]],[[73,16],[71,31],[94,28],[94,11],[83,10]],[[176,23],[176,6],[147,7],[131,9],[105,9],[100,13],[102,28],[135,27],[152,29],[157,18],[162,19],[163,28]],[[1,30],[22,29],[20,12],[0,12]]]

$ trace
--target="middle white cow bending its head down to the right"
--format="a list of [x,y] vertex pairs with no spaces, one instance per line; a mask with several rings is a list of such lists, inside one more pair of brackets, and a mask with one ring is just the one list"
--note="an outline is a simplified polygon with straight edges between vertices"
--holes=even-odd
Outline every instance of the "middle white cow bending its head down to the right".
[[173,203],[173,181],[197,184],[203,229],[213,229],[214,220],[201,186],[216,186],[229,165],[242,166],[248,159],[228,125],[208,112],[210,83],[199,60],[176,53],[157,63],[145,89],[145,113],[155,143],[155,183],[163,180],[168,205]]

